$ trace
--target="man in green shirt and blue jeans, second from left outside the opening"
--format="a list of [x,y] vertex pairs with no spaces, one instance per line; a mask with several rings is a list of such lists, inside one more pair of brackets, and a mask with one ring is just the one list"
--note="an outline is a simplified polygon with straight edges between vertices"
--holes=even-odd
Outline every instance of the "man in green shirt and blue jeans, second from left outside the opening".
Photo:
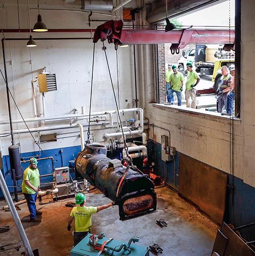
[[169,93],[168,93],[168,103],[171,102],[171,94],[174,92],[177,95],[178,106],[182,106],[182,91],[183,91],[183,81],[184,76],[181,72],[177,71],[177,66],[172,65],[173,73],[169,77]]

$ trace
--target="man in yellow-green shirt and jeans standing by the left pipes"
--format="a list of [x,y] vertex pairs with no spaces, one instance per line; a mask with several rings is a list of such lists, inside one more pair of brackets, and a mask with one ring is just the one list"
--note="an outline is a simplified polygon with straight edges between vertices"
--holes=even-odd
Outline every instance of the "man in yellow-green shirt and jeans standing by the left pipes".
[[42,215],[41,212],[36,210],[37,192],[40,188],[40,173],[37,169],[37,159],[32,157],[29,160],[29,167],[23,172],[22,192],[25,196],[27,206],[30,212],[30,221],[39,222],[41,219],[37,215]]

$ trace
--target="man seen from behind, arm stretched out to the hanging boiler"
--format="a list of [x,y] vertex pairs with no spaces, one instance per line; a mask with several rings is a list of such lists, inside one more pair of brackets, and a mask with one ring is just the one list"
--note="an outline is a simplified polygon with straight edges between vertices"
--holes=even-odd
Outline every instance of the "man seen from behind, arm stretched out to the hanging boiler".
[[71,224],[74,219],[75,231],[73,236],[73,244],[77,245],[89,232],[92,226],[91,215],[98,213],[104,209],[115,205],[115,202],[105,204],[102,206],[85,206],[86,197],[83,193],[78,193],[75,197],[75,203],[78,205],[74,207],[70,213],[67,230],[71,230]]

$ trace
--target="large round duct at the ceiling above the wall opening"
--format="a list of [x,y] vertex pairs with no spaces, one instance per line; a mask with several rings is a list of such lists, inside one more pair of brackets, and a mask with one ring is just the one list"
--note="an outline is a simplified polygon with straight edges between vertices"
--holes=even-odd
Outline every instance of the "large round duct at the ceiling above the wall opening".
[[[198,9],[207,8],[209,6],[224,2],[226,0],[170,0],[168,1],[168,18],[174,18],[187,14],[188,12],[197,11]],[[156,4],[147,15],[146,20],[149,23],[156,23],[166,19],[165,0]]]

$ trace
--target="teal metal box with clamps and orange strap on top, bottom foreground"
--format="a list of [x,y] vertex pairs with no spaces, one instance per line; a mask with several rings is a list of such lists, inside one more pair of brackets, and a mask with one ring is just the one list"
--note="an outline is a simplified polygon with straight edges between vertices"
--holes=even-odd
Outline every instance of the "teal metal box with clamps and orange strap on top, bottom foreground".
[[106,238],[104,234],[88,234],[72,248],[70,256],[149,256],[149,247],[134,245],[138,236],[129,239],[128,243]]

